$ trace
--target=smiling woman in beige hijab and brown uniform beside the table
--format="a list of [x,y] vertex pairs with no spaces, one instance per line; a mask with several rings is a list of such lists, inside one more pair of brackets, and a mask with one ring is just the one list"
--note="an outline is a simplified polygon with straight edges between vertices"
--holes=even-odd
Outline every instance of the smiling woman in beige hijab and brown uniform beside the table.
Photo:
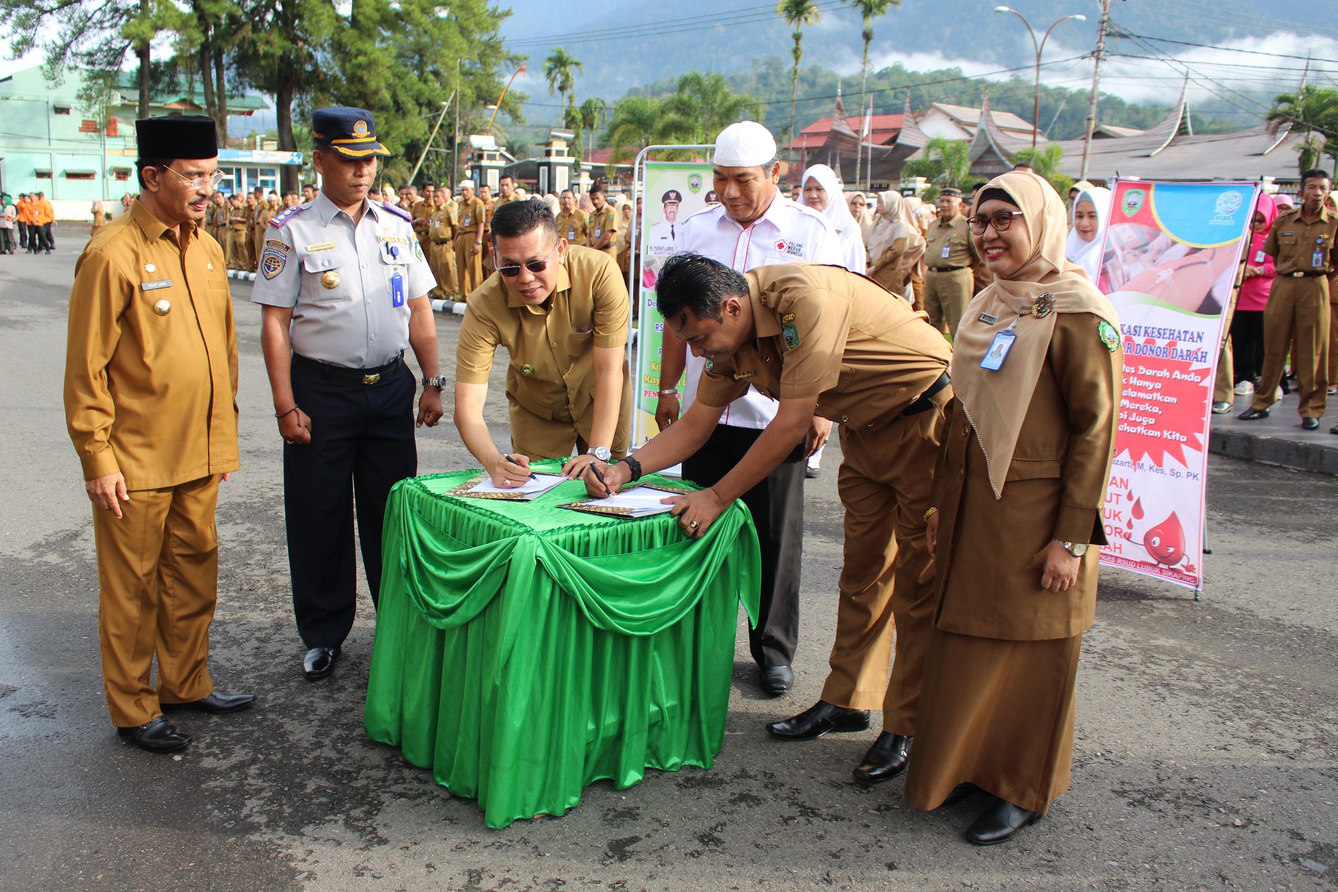
[[939,603],[906,798],[995,797],[966,832],[977,845],[1012,839],[1069,788],[1096,612],[1123,352],[1115,309],[1064,258],[1066,223],[1054,189],[1017,171],[970,218],[995,281],[953,345],[927,531]]

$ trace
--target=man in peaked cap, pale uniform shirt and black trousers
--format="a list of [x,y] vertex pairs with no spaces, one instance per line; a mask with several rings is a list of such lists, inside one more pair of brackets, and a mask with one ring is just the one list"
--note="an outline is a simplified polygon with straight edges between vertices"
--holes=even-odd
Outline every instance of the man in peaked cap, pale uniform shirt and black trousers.
[[[321,191],[269,222],[252,301],[284,440],[284,514],[302,671],[330,674],[353,627],[353,516],[376,604],[391,487],[417,473],[417,427],[442,417],[436,280],[407,211],[368,201],[379,156],[364,108],[312,115]],[[412,348],[423,373],[404,362]]]

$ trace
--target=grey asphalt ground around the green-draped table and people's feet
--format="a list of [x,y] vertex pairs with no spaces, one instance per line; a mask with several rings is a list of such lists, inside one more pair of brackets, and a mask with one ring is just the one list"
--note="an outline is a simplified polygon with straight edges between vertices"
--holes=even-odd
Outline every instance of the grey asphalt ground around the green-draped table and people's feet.
[[[710,770],[586,789],[561,818],[483,826],[361,728],[375,617],[336,674],[301,675],[280,440],[250,286],[233,285],[242,471],[218,506],[211,670],[257,706],[186,714],[178,756],[123,745],[103,703],[90,503],[64,431],[66,305],[82,229],[0,257],[0,888],[3,889],[1331,889],[1338,888],[1338,481],[1210,463],[1208,586],[1108,571],[1078,671],[1073,789],[1008,844],[850,772],[875,732],[809,744],[764,722],[812,703],[840,564],[839,451],[805,497],[795,691],[761,695],[740,634]],[[438,317],[443,370],[459,317]],[[448,396],[448,395],[447,395]],[[500,377],[490,423],[504,443]],[[447,419],[450,419],[447,400]],[[419,469],[472,467],[447,421]],[[743,627],[740,627],[740,633]],[[876,728],[876,714],[875,714]]]

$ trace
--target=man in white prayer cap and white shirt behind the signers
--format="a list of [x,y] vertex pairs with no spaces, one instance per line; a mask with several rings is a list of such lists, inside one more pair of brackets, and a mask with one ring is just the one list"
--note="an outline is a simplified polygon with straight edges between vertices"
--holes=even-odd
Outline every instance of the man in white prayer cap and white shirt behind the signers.
[[[677,227],[677,249],[705,254],[747,273],[775,263],[840,265],[836,234],[827,219],[780,194],[776,139],[755,120],[729,124],[716,136],[712,191],[720,199]],[[682,405],[677,384],[686,368]],[[688,356],[686,345],[669,326],[664,332],[660,401],[656,421],[665,429],[678,420],[697,395],[705,360]],[[776,403],[749,389],[729,404],[697,455],[682,463],[688,480],[710,487],[744,457],[776,416]],[[816,419],[807,441],[763,483],[744,495],[761,544],[761,598],[757,627],[749,635],[752,657],[761,670],[764,691],[779,695],[793,683],[799,643],[799,566],[804,548],[804,459],[827,441],[831,423]]]

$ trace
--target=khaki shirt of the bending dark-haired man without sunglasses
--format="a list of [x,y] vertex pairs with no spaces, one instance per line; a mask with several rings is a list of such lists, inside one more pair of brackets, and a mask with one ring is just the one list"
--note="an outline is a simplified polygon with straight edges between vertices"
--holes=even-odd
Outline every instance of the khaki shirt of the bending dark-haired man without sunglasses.
[[744,278],[756,337],[702,372],[697,399],[706,405],[729,405],[752,385],[773,400],[816,396],[816,415],[879,428],[947,369],[951,348],[925,313],[863,275],[781,263]]

